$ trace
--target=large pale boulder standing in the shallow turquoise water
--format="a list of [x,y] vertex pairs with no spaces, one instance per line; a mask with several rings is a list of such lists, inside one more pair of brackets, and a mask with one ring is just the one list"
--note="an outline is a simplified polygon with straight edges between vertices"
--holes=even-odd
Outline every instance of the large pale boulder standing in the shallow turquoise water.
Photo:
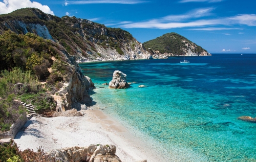
[[113,79],[109,82],[109,88],[114,89],[125,89],[129,87],[129,84],[126,81],[126,74],[122,71],[115,70],[113,74]]

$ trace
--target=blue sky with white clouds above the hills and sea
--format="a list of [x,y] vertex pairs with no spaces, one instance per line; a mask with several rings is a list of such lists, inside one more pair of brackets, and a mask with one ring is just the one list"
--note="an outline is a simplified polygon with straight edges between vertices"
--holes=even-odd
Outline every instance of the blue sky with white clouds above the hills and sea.
[[256,0],[0,0],[127,30],[139,42],[176,32],[210,53],[256,53]]

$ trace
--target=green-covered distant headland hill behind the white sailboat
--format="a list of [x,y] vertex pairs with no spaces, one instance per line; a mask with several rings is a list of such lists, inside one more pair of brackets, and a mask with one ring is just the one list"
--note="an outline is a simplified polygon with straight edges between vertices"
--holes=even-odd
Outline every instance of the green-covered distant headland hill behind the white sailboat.
[[[188,46],[186,46],[186,44],[188,44]],[[187,48],[190,48],[192,52],[195,53],[206,51],[201,46],[197,46],[177,33],[164,34],[161,37],[145,42],[143,45],[147,49],[151,48],[153,50],[158,50],[160,53],[166,52],[175,55],[183,55],[183,50],[186,50]],[[194,46],[195,48],[193,49],[191,46]]]

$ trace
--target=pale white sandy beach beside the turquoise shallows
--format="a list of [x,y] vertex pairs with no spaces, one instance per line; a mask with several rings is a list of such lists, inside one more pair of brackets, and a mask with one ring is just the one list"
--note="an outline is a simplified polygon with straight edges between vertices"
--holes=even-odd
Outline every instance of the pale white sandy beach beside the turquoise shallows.
[[148,162],[159,162],[150,145],[136,139],[116,120],[100,110],[81,111],[79,117],[32,117],[15,137],[14,141],[21,150],[27,148],[44,151],[64,147],[90,144],[113,144],[117,147],[116,155],[122,162],[135,162],[147,159]]

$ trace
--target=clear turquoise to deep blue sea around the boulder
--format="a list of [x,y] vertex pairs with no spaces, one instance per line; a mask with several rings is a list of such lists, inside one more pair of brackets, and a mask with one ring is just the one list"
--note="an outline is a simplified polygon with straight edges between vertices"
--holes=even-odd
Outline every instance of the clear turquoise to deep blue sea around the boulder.
[[[166,162],[256,162],[256,54],[80,64],[91,97],[135,136],[145,135]],[[131,87],[109,89],[114,70]],[[138,88],[145,85],[146,88]],[[161,145],[164,147],[158,147]],[[165,148],[165,149],[164,149]],[[162,149],[162,150],[161,150]]]

